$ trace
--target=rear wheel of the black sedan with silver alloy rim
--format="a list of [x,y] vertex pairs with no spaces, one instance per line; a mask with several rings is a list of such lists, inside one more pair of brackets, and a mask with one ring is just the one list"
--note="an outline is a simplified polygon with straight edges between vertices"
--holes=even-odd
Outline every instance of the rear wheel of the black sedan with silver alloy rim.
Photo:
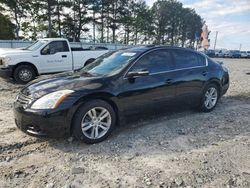
[[200,109],[204,112],[212,111],[217,105],[219,99],[219,89],[215,84],[209,84],[201,99]]

